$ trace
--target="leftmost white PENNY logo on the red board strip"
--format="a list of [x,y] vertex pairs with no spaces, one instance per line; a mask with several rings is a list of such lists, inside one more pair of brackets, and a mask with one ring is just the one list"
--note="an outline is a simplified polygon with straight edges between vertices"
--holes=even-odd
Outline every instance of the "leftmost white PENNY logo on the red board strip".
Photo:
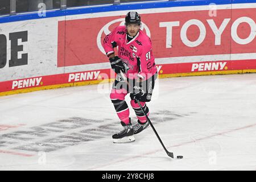
[[11,89],[15,89],[15,88],[20,89],[20,88],[29,88],[32,86],[39,86],[41,80],[42,80],[42,77],[15,80],[13,81],[13,86]]

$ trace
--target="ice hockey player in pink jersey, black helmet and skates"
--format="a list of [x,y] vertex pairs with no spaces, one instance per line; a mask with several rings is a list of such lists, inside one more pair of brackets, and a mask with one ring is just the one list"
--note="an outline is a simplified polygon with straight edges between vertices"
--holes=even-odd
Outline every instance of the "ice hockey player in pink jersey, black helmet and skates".
[[[148,115],[146,102],[151,100],[157,69],[152,54],[151,40],[141,30],[141,25],[141,16],[137,12],[129,12],[125,17],[125,26],[114,28],[103,40],[111,67],[117,73],[110,99],[124,127],[122,131],[112,136],[114,143],[134,141],[133,135],[140,133],[148,126],[147,119],[135,98]],[[118,47],[118,56],[115,55],[114,47]],[[122,79],[120,71],[125,73],[130,86]],[[135,125],[131,124],[129,107],[125,101],[128,93],[131,98],[130,104],[138,118],[138,123]]]

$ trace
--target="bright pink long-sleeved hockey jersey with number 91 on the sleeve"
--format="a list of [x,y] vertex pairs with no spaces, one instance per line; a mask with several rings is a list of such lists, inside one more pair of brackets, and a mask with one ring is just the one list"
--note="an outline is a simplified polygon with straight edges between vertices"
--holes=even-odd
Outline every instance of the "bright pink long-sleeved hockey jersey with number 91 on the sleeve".
[[126,76],[128,78],[148,79],[157,72],[151,40],[142,30],[139,30],[138,34],[127,42],[126,27],[116,27],[103,40],[106,55],[114,52],[113,44],[115,43],[118,46],[118,57],[127,64]]

